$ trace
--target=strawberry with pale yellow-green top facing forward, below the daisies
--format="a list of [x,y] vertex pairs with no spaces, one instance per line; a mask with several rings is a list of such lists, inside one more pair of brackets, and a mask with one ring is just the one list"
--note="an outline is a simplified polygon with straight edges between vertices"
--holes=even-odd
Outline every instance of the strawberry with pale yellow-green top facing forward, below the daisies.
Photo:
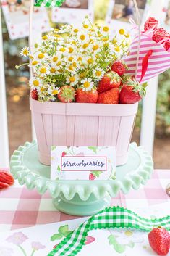
[[60,102],[73,102],[75,100],[75,89],[72,86],[63,86],[57,96]]

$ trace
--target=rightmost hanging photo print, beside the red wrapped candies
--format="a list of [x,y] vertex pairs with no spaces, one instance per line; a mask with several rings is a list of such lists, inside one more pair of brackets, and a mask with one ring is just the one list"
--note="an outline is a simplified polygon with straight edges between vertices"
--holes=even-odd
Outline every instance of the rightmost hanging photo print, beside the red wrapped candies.
[[[150,7],[150,1],[137,0],[137,6],[140,11],[141,22],[146,20],[148,10]],[[129,19],[137,22],[137,14],[135,12],[135,5],[133,0],[111,0],[109,4],[109,10],[107,13],[106,21],[109,22],[111,27],[119,30],[125,28],[131,30]]]

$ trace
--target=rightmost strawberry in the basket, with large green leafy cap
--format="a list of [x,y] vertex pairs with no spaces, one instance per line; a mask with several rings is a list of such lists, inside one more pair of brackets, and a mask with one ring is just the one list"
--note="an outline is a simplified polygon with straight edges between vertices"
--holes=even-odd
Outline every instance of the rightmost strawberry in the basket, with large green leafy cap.
[[127,76],[120,91],[120,104],[133,104],[140,102],[145,96],[145,87],[136,82],[134,78]]

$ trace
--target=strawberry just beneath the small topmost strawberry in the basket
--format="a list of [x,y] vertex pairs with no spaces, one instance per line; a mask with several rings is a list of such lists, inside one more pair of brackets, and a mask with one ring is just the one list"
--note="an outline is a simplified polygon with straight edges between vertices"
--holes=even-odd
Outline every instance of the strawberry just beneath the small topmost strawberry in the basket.
[[104,91],[109,91],[112,88],[119,88],[121,85],[121,78],[115,72],[107,73],[103,76],[101,81],[98,83],[98,94]]

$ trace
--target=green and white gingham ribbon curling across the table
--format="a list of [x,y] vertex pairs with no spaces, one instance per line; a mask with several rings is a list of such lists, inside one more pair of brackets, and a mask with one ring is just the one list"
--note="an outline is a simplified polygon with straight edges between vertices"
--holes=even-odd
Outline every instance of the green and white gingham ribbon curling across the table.
[[170,231],[170,215],[166,218],[149,220],[138,216],[131,210],[122,207],[109,207],[82,223],[57,245],[48,256],[75,256],[85,245],[88,232],[101,228],[133,228],[140,231],[150,231],[161,226]]

